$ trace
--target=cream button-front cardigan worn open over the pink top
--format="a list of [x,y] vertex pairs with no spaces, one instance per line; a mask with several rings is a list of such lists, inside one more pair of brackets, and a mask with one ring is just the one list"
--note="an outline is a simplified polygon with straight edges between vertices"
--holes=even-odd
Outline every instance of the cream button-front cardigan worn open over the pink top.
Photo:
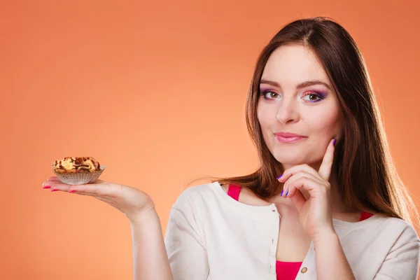
[[[275,280],[279,223],[274,204],[237,202],[218,182],[184,190],[165,235],[174,279]],[[374,215],[333,224],[357,280],[416,279],[420,240],[409,223]],[[296,277],[302,279],[316,279],[313,244]]]

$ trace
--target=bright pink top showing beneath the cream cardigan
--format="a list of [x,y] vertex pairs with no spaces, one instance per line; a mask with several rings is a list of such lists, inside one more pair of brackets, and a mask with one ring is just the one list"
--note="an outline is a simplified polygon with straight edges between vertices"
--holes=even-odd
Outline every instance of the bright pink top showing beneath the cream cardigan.
[[[234,200],[239,200],[239,193],[241,193],[241,187],[235,185],[229,185],[228,195]],[[360,216],[360,221],[363,221],[367,218],[370,218],[373,214],[362,211]],[[294,280],[299,273],[299,269],[302,265],[302,262],[281,262],[280,260],[276,261],[276,274],[277,280]]]

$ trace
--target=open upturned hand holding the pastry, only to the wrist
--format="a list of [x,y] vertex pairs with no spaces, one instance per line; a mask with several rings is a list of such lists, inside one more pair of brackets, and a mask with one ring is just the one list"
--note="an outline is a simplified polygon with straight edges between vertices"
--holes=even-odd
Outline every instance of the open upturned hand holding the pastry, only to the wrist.
[[147,193],[118,183],[97,180],[83,185],[69,185],[54,176],[43,182],[43,188],[96,197],[123,212],[131,223],[137,222],[145,213],[155,210],[155,203]]

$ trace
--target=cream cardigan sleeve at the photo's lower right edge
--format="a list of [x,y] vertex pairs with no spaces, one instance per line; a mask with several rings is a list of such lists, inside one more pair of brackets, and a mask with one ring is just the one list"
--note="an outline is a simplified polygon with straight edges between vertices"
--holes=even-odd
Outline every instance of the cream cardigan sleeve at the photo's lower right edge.
[[414,228],[407,226],[382,262],[374,280],[416,280],[419,274],[420,241]]

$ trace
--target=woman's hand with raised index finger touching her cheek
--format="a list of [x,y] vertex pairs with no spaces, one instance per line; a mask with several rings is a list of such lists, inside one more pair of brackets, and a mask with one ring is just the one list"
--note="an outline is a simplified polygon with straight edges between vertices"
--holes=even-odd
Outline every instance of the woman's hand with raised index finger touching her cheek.
[[[321,235],[335,232],[330,207],[330,174],[334,160],[335,140],[328,144],[318,172],[309,165],[286,169],[279,181],[284,183],[282,197],[289,197],[299,211],[300,223],[314,241]],[[300,189],[308,191],[304,198]]]

